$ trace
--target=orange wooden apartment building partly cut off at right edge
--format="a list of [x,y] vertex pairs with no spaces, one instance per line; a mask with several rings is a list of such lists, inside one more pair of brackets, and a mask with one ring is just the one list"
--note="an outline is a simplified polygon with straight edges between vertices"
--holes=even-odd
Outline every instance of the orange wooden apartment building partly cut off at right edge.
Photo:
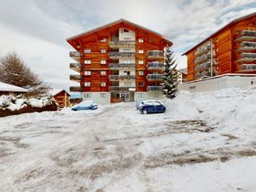
[[188,81],[256,73],[256,13],[233,20],[183,55],[188,58]]

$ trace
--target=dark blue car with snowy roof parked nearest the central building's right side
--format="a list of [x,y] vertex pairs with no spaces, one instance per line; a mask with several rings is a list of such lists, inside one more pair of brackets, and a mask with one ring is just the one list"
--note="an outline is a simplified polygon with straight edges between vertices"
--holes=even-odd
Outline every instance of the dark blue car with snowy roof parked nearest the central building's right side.
[[143,102],[140,103],[139,110],[143,114],[165,113],[166,112],[166,107],[160,101],[148,100],[148,101],[143,101]]

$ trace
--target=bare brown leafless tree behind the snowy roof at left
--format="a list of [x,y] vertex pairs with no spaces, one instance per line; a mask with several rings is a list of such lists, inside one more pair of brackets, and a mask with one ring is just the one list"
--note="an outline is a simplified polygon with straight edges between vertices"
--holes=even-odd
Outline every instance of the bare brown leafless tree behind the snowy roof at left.
[[26,88],[29,95],[42,95],[50,89],[15,52],[0,57],[0,81]]

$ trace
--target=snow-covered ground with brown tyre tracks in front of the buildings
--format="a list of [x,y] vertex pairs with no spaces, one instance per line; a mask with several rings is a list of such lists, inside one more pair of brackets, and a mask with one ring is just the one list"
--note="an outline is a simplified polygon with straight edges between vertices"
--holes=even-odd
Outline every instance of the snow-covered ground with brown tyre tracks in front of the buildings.
[[0,118],[1,191],[256,191],[256,87]]

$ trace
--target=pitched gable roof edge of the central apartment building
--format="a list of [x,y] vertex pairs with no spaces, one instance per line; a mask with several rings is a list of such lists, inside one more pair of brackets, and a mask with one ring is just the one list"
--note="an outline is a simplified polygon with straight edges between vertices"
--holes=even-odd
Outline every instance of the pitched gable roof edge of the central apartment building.
[[159,36],[160,38],[164,38],[166,41],[168,41],[168,42],[171,43],[171,45],[172,45],[172,42],[171,42],[168,38],[166,38],[166,37],[164,37],[163,35],[161,35],[159,32],[154,32],[154,31],[152,31],[152,30],[150,30],[150,29],[148,29],[148,28],[146,28],[146,27],[139,26],[139,25],[137,25],[137,24],[135,24],[135,23],[133,23],[133,22],[131,22],[131,21],[129,21],[129,20],[124,20],[124,19],[115,20],[115,21],[113,21],[113,22],[111,22],[111,23],[108,23],[108,24],[103,25],[103,26],[96,27],[96,28],[91,29],[91,30],[89,30],[89,31],[87,31],[87,32],[82,32],[82,33],[80,33],[80,34],[78,34],[78,35],[75,35],[75,36],[73,36],[73,37],[71,37],[71,38],[67,38],[67,41],[73,40],[73,39],[75,39],[75,38],[79,38],[79,37],[84,36],[84,35],[88,35],[88,34],[93,33],[93,32],[100,31],[100,30],[102,30],[102,29],[104,29],[104,28],[107,28],[107,27],[109,27],[109,26],[114,26],[114,25],[117,25],[117,24],[119,24],[119,23],[126,23],[126,24],[129,24],[129,25],[131,25],[131,26],[137,26],[138,28],[141,28],[141,29],[143,29],[143,30],[145,30],[145,31],[154,33],[154,35]]

